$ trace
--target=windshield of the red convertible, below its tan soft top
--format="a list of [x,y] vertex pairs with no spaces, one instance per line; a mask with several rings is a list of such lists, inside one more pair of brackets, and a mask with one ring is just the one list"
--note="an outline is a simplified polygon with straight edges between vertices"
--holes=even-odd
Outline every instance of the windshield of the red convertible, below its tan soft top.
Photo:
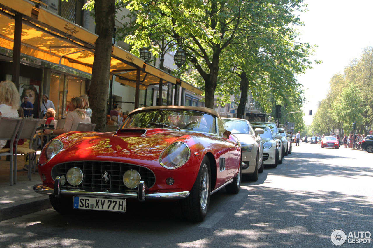
[[[203,112],[183,110],[151,110],[130,115],[122,128],[169,128],[216,133],[215,118]],[[178,128],[177,128],[178,127]]]

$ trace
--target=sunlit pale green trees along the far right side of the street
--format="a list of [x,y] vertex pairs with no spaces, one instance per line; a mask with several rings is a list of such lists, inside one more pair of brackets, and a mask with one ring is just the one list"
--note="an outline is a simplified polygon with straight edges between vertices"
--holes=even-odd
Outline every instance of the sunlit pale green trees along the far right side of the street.
[[366,47],[360,58],[345,67],[344,74],[330,79],[330,90],[314,115],[312,127],[320,133],[340,136],[356,131],[367,134],[366,127],[373,124],[373,47]]

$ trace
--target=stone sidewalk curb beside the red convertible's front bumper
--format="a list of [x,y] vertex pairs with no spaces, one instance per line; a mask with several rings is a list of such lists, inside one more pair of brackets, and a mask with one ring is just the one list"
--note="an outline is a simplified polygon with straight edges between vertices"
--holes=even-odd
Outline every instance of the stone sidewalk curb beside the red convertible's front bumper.
[[0,206],[0,221],[50,209],[51,207],[52,205],[50,204],[48,195],[43,195],[36,199],[33,198],[4,204]]

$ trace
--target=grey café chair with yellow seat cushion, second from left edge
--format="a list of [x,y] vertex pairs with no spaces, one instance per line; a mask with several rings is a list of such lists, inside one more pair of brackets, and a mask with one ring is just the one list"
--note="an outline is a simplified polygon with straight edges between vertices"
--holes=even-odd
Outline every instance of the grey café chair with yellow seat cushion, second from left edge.
[[[30,118],[23,118],[21,125],[18,129],[18,134],[16,137],[16,149],[15,149],[15,162],[14,162],[14,184],[17,183],[17,154],[29,154],[29,166],[28,166],[28,179],[31,180],[31,170],[36,168],[36,147],[34,149],[30,149],[27,147],[18,147],[18,140],[19,139],[30,139],[30,143],[35,137],[36,129],[39,125],[40,119],[30,119]],[[37,144],[37,140],[34,144]],[[33,155],[31,158],[31,154]]]

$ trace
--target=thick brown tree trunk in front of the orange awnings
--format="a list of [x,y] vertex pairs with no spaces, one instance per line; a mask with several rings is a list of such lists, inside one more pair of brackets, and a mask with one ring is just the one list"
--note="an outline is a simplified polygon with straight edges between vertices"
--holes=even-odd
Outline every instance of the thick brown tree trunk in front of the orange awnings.
[[106,104],[109,93],[110,61],[115,19],[115,0],[95,0],[96,48],[90,87],[91,122],[95,131],[105,131]]

